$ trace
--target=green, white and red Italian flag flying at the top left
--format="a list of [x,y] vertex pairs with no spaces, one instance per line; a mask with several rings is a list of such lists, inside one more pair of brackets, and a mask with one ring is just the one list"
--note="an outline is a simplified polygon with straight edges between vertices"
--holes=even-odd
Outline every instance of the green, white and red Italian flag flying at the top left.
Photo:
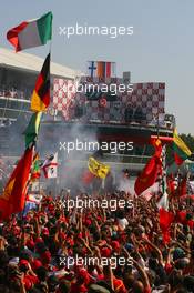
[[16,52],[45,44],[51,38],[52,12],[39,19],[23,21],[7,33],[7,39],[16,48]]

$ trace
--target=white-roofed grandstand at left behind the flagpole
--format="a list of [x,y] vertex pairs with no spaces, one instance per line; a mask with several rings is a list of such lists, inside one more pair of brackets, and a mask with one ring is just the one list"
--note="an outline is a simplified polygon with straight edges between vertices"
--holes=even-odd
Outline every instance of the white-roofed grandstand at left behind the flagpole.
[[[16,53],[12,50],[0,48],[0,151],[10,154],[10,133],[19,133],[23,119],[29,121],[30,98],[44,59],[29,54]],[[51,87],[54,78],[73,80],[81,72],[68,67],[51,62]],[[18,120],[17,124],[14,123]],[[20,123],[20,121],[22,123]],[[14,125],[16,124],[16,125]],[[14,135],[17,145],[21,144],[21,135]]]

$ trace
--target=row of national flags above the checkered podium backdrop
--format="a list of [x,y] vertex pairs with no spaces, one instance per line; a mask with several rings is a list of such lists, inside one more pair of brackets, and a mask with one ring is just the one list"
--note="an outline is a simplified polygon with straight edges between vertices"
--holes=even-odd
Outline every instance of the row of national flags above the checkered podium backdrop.
[[88,61],[88,77],[115,78],[115,62]]

